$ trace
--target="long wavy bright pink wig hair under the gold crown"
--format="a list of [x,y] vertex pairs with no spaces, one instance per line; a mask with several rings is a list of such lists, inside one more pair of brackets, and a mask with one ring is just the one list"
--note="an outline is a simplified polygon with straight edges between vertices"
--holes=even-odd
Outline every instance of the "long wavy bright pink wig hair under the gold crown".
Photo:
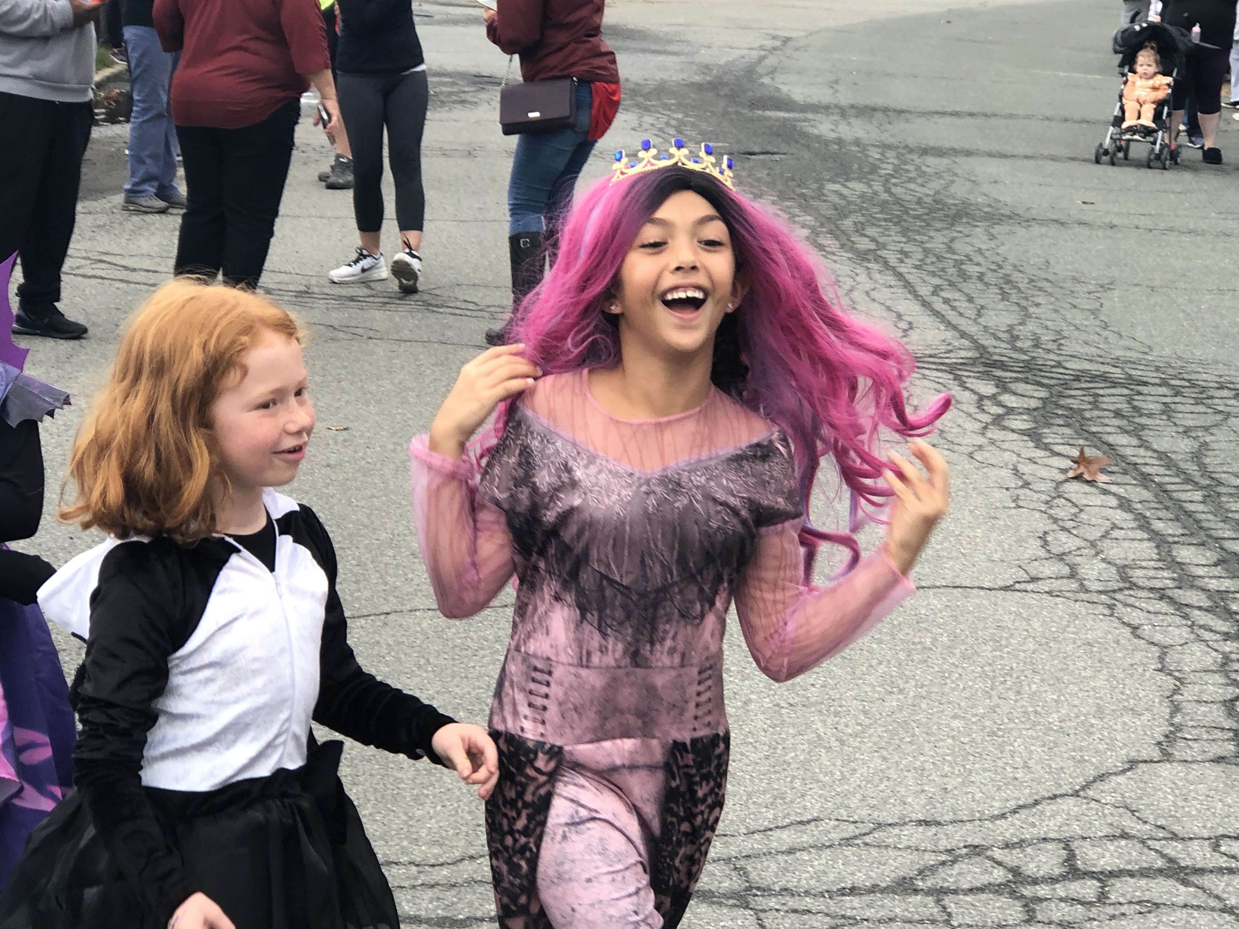
[[[943,394],[919,415],[903,386],[914,363],[893,338],[839,308],[817,255],[778,218],[700,171],[659,168],[617,183],[596,183],[569,214],[558,260],[522,302],[513,336],[545,374],[606,368],[620,360],[620,334],[602,306],[637,233],[678,191],[707,199],[731,232],[736,266],[750,289],[715,337],[711,380],[790,437],[805,520],[805,578],[821,541],[845,546],[845,571],[860,559],[855,533],[891,495],[880,430],[923,436],[950,406]],[[507,408],[496,431],[503,430]],[[483,451],[484,455],[484,451]],[[851,492],[849,533],[815,529],[808,519],[818,468],[829,456]]]

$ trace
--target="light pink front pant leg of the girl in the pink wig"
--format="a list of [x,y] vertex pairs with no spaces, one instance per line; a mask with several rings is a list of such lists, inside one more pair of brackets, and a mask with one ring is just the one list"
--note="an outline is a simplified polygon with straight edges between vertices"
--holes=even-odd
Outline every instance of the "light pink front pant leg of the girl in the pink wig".
[[660,929],[649,853],[628,799],[561,767],[538,855],[538,898],[555,927]]

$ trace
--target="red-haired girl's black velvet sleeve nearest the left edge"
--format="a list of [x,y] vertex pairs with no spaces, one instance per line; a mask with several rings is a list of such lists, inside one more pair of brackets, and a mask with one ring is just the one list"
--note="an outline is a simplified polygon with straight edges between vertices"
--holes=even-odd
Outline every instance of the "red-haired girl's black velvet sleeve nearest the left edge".
[[73,751],[82,803],[152,925],[165,925],[198,889],[141,784],[146,733],[159,718],[151,704],[167,685],[169,655],[192,632],[185,628],[183,585],[170,547],[162,539],[118,545],[99,567]]

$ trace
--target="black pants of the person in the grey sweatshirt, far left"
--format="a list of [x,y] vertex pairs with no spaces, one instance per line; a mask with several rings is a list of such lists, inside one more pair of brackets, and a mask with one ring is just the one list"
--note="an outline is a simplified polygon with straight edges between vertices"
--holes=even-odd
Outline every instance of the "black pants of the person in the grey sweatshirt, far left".
[[0,125],[21,129],[0,145],[0,261],[21,253],[17,296],[27,306],[61,299],[61,268],[73,238],[90,103],[0,93]]

